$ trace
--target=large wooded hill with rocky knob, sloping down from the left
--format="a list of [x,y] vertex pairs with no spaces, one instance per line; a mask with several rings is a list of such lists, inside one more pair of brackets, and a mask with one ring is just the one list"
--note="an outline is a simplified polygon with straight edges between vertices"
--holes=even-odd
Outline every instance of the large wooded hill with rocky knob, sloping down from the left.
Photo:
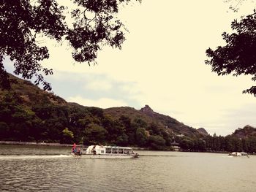
[[[11,85],[12,90],[0,91],[0,127],[6,130],[0,133],[0,139],[49,142],[80,142],[80,139],[87,139],[87,142],[92,142],[90,139],[95,139],[96,133],[86,131],[93,130],[99,131],[97,137],[104,138],[106,142],[119,138],[118,143],[122,144],[121,141],[124,141],[124,145],[132,142],[146,145],[138,141],[137,130],[143,132],[143,137],[149,140],[151,138],[151,141],[167,141],[168,145],[175,137],[203,137],[195,128],[186,126],[170,116],[154,112],[148,105],[140,110],[133,107],[86,107],[69,103],[54,93],[43,91],[30,81],[12,74],[10,79],[14,82]],[[83,138],[84,134],[90,137]],[[99,140],[95,140],[97,139]]]

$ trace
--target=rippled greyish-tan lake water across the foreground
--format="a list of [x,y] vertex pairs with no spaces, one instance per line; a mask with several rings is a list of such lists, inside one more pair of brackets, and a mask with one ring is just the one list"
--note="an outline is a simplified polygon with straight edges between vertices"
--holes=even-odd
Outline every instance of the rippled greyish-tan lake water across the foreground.
[[256,191],[256,156],[135,151],[89,159],[69,147],[0,145],[0,191]]

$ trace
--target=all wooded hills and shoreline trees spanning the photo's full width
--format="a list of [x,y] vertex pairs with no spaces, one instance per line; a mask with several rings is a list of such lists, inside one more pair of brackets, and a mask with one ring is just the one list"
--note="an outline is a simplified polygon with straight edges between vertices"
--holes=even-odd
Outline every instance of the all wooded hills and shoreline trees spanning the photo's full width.
[[148,105],[132,107],[84,107],[42,91],[27,80],[10,75],[12,89],[0,89],[0,140],[60,142],[84,145],[123,145],[171,149],[178,142],[188,151],[256,152],[255,128],[239,128],[227,137],[211,136],[204,128],[192,128]]

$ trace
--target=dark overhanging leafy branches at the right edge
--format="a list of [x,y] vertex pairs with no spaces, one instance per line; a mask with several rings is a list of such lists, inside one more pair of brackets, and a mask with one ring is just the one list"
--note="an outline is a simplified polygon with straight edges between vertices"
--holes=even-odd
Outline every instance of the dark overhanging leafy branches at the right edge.
[[[206,55],[210,58],[206,64],[211,65],[212,72],[218,75],[241,74],[252,75],[256,80],[256,12],[247,15],[241,20],[231,23],[232,34],[224,32],[222,38],[225,46],[219,46],[216,50],[208,48]],[[243,91],[256,96],[256,86]]]

